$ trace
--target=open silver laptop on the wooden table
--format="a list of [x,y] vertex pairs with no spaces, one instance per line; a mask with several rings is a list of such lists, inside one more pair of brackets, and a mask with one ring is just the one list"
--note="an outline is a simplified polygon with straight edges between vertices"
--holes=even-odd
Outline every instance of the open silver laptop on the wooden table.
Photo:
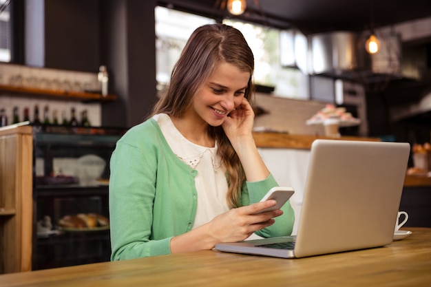
[[299,258],[386,246],[394,236],[409,156],[406,142],[315,140],[297,235],[215,249]]

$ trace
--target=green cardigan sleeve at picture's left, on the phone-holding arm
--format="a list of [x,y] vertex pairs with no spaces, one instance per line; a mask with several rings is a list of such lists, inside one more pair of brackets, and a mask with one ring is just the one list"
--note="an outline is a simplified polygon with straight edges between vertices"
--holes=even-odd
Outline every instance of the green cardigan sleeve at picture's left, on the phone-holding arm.
[[109,177],[112,260],[170,253],[171,237],[151,240],[156,193],[154,154],[122,140],[112,153]]

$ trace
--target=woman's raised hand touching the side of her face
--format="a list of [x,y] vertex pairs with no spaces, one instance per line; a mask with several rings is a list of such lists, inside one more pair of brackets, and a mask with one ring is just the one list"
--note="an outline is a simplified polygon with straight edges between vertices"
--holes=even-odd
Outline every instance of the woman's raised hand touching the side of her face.
[[235,107],[224,120],[222,124],[224,133],[231,141],[235,137],[251,136],[254,117],[255,114],[249,101],[243,98],[242,103],[238,107]]

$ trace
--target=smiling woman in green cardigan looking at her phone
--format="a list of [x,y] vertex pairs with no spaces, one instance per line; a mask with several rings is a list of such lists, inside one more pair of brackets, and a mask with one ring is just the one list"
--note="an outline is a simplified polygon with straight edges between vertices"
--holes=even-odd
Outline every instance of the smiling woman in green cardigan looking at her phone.
[[[227,25],[187,42],[151,118],[112,153],[112,260],[211,249],[256,233],[290,235],[290,204],[260,202],[277,186],[252,136],[253,53]],[[277,222],[273,217],[278,217]]]

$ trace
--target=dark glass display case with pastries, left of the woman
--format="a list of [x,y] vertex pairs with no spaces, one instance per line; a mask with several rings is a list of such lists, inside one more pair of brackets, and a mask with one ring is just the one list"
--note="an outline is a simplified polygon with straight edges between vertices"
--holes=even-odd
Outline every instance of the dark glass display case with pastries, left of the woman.
[[109,158],[124,132],[34,126],[33,270],[109,261]]

